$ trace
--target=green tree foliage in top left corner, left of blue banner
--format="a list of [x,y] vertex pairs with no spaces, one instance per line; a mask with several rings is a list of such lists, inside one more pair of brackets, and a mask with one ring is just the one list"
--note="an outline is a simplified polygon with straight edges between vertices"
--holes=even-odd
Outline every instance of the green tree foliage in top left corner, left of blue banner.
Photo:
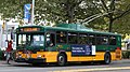
[[24,4],[31,0],[0,0],[0,13],[2,18],[20,18],[24,16]]

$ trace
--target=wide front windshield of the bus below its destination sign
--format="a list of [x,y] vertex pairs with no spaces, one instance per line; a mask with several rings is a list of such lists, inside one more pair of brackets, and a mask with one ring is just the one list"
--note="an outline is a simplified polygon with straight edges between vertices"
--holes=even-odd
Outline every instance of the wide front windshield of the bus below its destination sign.
[[43,34],[18,34],[18,45],[43,46]]

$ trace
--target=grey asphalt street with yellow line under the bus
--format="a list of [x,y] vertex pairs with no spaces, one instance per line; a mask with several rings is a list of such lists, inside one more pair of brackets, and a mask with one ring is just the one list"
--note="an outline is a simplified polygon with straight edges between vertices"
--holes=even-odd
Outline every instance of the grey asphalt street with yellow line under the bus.
[[69,63],[66,67],[54,64],[31,66],[11,61],[0,61],[0,72],[130,72],[130,59],[113,61],[110,64],[80,64]]

